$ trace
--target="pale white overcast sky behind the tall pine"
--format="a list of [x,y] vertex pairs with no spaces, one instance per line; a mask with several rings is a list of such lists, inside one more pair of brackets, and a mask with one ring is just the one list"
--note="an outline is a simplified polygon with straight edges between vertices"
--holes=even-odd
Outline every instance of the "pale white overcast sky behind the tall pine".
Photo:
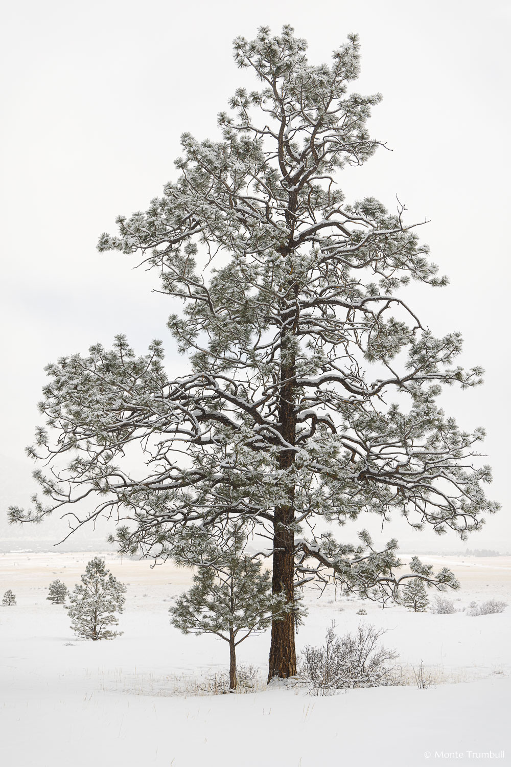
[[[362,93],[381,91],[372,136],[393,150],[341,179],[347,199],[405,202],[449,288],[417,291],[414,306],[437,334],[464,334],[462,363],[486,385],[445,397],[467,429],[488,430],[490,495],[503,509],[470,548],[511,549],[509,533],[509,37],[499,0],[5,5],[2,57],[2,397],[0,501],[26,504],[34,487],[24,446],[39,423],[44,365],[110,345],[124,332],[142,353],[165,341],[169,298],[129,258],[100,255],[116,214],[145,209],[175,177],[179,135],[215,137],[216,114],[247,75],[231,41],[283,23],[328,61],[348,32],[362,41]],[[11,537],[0,512],[0,531]],[[49,528],[48,528],[49,529]],[[398,533],[402,528],[398,525]],[[37,530],[37,532],[36,532]],[[385,538],[394,534],[388,529]],[[34,537],[44,534],[34,529]],[[403,547],[459,548],[454,537],[400,535]],[[464,548],[464,547],[462,547]]]

